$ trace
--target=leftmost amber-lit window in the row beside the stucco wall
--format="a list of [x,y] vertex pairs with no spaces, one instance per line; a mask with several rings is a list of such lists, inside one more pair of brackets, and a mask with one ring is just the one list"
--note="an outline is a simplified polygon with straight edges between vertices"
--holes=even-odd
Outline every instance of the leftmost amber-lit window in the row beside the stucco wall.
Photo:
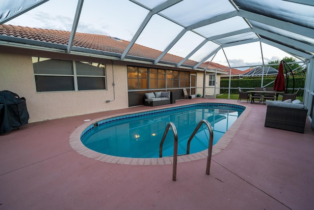
[[128,66],[128,89],[148,89],[147,68]]

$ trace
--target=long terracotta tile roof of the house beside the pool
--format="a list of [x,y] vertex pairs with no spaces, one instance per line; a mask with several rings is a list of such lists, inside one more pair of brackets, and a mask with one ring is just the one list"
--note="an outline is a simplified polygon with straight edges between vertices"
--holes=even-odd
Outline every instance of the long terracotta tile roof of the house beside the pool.
[[[32,44],[36,44],[34,41],[44,41],[47,43],[53,43],[58,45],[64,45],[66,49],[68,40],[71,32],[63,30],[47,30],[47,29],[35,29],[30,27],[12,26],[12,25],[0,25],[0,35],[10,37],[19,37],[25,39],[16,39],[15,42],[19,41],[23,44],[29,44],[29,41],[33,41]],[[21,41],[22,40],[22,41]],[[12,41],[12,40],[11,40]],[[117,39],[114,37],[90,34],[90,33],[79,33],[77,32],[73,41],[73,47],[87,48],[92,50],[98,50],[101,52],[110,52],[114,54],[122,54],[129,45],[129,41]],[[50,46],[51,47],[51,46]],[[53,45],[52,45],[53,47]],[[142,45],[134,44],[129,51],[128,55],[138,57],[141,59],[152,59],[156,60],[161,54],[161,51],[144,47]],[[170,63],[178,63],[183,58],[166,54],[162,60]],[[193,60],[186,60],[184,64],[186,66],[195,66],[198,62]],[[202,68],[206,68],[206,63],[200,65]]]

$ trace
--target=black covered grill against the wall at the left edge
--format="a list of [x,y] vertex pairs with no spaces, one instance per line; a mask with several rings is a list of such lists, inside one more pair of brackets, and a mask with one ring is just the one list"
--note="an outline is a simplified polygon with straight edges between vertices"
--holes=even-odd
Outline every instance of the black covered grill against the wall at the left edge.
[[26,100],[16,93],[0,91],[0,134],[28,123]]

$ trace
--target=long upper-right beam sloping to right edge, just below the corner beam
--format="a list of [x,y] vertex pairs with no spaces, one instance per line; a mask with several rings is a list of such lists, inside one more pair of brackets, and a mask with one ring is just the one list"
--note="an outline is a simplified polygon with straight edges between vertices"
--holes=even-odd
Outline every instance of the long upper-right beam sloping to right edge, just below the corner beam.
[[314,38],[314,30],[310,28],[288,23],[286,21],[281,21],[275,18],[266,17],[263,15],[259,15],[259,14],[245,11],[242,9],[238,11],[238,15],[243,18],[247,18],[249,20],[254,20],[254,21],[269,25],[269,26],[276,27],[278,29],[288,30],[293,33],[297,33],[303,36]]

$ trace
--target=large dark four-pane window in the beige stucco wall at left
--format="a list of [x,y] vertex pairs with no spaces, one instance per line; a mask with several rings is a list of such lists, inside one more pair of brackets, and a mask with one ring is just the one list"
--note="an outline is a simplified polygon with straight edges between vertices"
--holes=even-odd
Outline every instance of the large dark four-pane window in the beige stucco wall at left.
[[105,65],[32,58],[37,92],[105,90]]

